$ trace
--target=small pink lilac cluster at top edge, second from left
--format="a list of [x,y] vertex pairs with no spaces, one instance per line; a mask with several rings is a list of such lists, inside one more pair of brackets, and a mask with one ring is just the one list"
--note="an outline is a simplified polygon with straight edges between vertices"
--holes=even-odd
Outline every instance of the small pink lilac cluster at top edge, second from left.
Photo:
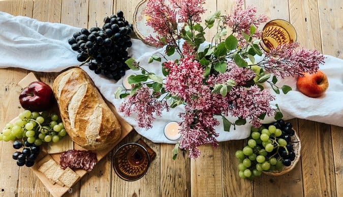
[[202,7],[205,4],[205,0],[171,0],[173,8],[179,9],[180,15],[179,22],[201,22],[200,15],[205,13],[205,9]]

